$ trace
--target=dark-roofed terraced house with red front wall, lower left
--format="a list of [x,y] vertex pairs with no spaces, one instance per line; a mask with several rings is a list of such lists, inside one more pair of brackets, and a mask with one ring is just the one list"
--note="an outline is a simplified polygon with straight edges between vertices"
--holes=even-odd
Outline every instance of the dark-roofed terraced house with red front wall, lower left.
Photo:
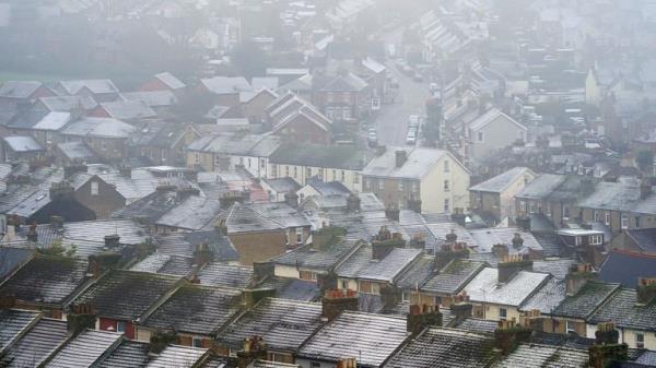
[[167,300],[181,282],[183,278],[175,276],[112,270],[95,280],[71,305],[93,306],[98,330],[116,331],[136,339],[137,325],[153,307]]

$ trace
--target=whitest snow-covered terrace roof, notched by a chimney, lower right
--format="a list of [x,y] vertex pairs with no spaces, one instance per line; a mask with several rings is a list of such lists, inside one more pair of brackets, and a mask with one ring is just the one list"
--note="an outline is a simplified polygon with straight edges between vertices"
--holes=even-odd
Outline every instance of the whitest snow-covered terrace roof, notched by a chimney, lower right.
[[546,273],[519,271],[505,284],[499,283],[499,271],[485,268],[465,286],[472,301],[519,307],[551,277]]

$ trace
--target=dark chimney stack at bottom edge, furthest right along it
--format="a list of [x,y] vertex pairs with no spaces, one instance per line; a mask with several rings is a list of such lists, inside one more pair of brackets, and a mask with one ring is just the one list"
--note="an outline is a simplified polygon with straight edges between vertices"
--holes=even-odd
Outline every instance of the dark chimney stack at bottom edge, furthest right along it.
[[618,344],[620,334],[614,323],[598,323],[595,332],[595,345],[588,348],[589,366],[593,368],[610,367],[612,363],[629,359],[629,346]]

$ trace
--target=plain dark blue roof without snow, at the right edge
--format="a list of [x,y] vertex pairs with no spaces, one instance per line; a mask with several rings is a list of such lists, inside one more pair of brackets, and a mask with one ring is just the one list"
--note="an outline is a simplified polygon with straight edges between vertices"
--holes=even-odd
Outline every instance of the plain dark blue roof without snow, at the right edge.
[[656,256],[613,249],[599,270],[599,280],[635,287],[637,277],[656,276]]

